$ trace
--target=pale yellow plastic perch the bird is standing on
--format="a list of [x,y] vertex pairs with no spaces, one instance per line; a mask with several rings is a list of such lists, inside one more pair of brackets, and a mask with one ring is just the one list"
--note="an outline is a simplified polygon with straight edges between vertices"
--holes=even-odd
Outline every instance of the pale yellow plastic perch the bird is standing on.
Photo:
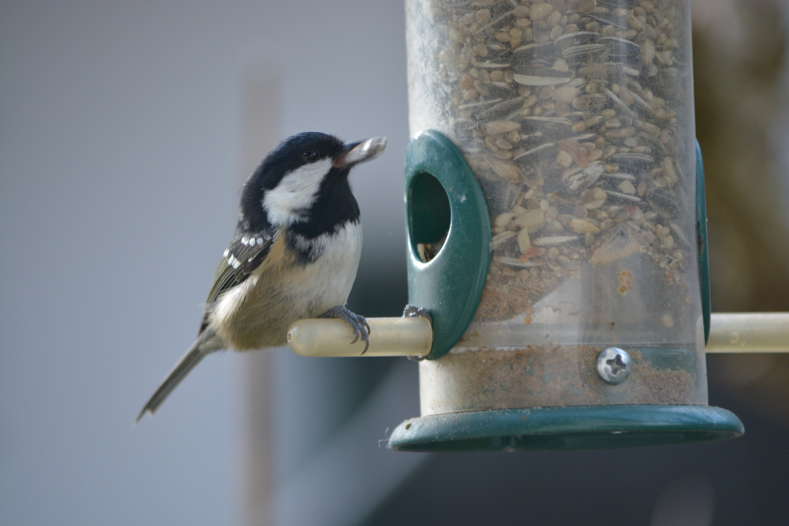
[[[368,318],[370,347],[365,356],[427,356],[433,331],[425,318]],[[365,342],[341,319],[300,319],[288,329],[290,350],[301,356],[361,356]]]

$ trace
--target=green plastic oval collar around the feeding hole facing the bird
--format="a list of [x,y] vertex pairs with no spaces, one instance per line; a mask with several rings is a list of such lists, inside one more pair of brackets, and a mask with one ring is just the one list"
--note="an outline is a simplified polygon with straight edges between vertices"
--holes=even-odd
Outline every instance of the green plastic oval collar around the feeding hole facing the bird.
[[[458,147],[434,130],[406,149],[409,303],[433,321],[428,360],[449,352],[480,304],[491,262],[491,225],[482,188]],[[424,263],[418,244],[439,244]]]

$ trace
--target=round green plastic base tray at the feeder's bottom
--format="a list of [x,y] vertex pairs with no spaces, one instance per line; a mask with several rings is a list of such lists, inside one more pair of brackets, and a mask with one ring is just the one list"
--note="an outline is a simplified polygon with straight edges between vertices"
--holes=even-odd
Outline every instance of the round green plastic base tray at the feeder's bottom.
[[422,416],[389,439],[398,451],[590,450],[736,438],[742,422],[707,405],[578,405]]

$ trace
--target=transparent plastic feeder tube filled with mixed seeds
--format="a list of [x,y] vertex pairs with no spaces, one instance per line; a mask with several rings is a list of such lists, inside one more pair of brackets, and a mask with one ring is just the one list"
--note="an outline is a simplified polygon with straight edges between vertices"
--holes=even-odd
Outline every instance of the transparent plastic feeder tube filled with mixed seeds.
[[[493,232],[422,415],[705,405],[689,2],[406,0],[406,34],[411,135],[461,149]],[[608,347],[625,382],[596,370]]]

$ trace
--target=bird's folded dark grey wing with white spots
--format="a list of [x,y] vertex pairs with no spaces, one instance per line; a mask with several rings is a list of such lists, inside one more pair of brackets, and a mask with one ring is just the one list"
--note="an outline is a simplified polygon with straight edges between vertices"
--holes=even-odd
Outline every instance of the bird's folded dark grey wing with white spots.
[[271,230],[258,233],[237,232],[234,235],[216,267],[198,334],[202,334],[208,326],[208,313],[219,295],[249,278],[249,274],[264,262],[277,237],[278,234]]

